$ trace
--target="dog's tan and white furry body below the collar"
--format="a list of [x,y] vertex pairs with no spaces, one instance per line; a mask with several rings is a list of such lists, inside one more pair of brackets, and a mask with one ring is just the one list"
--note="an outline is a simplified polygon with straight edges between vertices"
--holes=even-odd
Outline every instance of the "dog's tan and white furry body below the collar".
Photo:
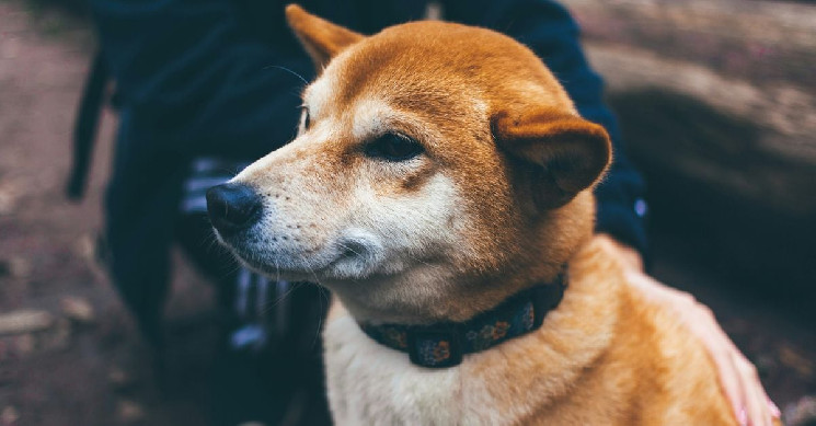
[[390,383],[420,380],[446,385],[447,398],[434,400],[444,400],[448,418],[462,425],[736,424],[704,349],[623,283],[602,240],[575,255],[570,283],[541,330],[441,372],[378,348],[341,304],[333,306],[325,349],[338,424],[448,424],[438,414],[423,415],[432,403],[421,398],[394,404],[395,396],[381,396],[393,391]]

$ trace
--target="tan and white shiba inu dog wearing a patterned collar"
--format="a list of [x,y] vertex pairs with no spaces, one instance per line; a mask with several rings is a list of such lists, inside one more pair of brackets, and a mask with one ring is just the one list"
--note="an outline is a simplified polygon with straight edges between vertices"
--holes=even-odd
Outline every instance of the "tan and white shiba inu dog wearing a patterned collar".
[[532,51],[286,12],[320,69],[299,134],[208,203],[246,265],[332,290],[337,424],[737,423],[702,345],[594,238],[609,137]]

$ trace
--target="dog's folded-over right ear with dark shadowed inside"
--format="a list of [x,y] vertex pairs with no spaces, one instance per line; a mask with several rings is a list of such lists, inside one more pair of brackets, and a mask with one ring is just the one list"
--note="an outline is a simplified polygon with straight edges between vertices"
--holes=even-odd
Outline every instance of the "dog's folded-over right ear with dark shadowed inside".
[[600,180],[612,160],[604,127],[577,116],[539,110],[493,116],[496,143],[519,162],[520,184],[539,209],[558,208]]

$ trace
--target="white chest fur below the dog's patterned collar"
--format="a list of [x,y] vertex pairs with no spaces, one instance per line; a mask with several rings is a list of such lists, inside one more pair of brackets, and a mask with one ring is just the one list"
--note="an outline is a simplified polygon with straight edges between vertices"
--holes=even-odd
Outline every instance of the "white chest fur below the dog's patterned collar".
[[[337,425],[498,425],[484,383],[462,366],[427,369],[382,346],[349,315],[324,332],[329,400]],[[467,362],[467,360],[466,360]]]

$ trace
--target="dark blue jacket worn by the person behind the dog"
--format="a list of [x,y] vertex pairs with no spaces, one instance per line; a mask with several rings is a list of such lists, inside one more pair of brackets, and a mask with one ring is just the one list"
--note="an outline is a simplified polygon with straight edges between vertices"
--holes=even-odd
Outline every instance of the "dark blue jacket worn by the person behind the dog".
[[[578,28],[548,0],[448,0],[445,19],[508,34],[535,50],[575,101],[604,125],[616,162],[598,187],[599,231],[640,250],[640,174],[620,149],[602,82]],[[312,66],[274,0],[91,0],[105,62],[120,99],[106,198],[111,270],[148,335],[158,335],[181,183],[192,158],[258,158],[295,135]],[[361,33],[422,19],[423,0],[302,0],[312,13]]]

